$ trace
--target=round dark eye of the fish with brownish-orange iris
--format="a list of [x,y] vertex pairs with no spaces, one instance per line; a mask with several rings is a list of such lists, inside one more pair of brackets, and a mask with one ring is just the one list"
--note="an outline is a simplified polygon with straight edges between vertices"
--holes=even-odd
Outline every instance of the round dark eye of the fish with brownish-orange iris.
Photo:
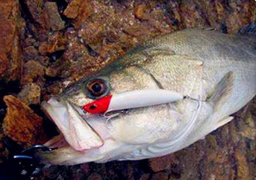
[[92,79],[86,83],[86,90],[92,98],[97,98],[108,93],[108,86],[103,79]]

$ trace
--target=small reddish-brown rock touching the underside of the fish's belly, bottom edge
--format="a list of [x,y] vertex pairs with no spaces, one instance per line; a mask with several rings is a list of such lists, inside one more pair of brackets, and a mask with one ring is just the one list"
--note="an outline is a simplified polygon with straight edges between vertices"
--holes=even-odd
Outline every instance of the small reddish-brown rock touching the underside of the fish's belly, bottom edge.
[[173,160],[173,154],[168,154],[166,156],[151,158],[149,159],[149,165],[152,171],[158,172],[170,168],[171,162]]

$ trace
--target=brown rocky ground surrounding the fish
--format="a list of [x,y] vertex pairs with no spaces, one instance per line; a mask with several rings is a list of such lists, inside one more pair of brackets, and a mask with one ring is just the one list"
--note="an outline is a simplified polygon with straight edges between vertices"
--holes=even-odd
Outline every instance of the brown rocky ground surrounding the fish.
[[[248,23],[254,0],[0,0],[0,162],[54,135],[40,102],[140,42],[191,27],[234,34]],[[50,166],[37,179],[255,180],[256,99],[234,117],[168,156]]]

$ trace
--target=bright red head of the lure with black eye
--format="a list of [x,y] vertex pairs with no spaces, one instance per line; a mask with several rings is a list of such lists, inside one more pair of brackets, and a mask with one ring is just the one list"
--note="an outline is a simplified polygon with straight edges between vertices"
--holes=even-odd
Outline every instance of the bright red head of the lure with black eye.
[[104,96],[100,99],[97,99],[95,101],[92,101],[91,103],[84,105],[82,108],[84,109],[84,111],[91,114],[105,113],[108,110],[111,98],[112,95]]

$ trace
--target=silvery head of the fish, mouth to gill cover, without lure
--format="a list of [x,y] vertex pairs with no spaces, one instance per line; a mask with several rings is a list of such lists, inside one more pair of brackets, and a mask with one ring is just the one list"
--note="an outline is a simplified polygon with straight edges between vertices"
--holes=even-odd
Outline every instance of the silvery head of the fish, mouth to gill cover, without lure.
[[[193,63],[185,62],[184,66],[190,66],[189,71],[184,67],[168,69],[169,65],[163,65],[165,61],[162,62],[162,57],[156,55],[154,59],[157,63],[152,60],[152,66],[157,71],[150,73],[141,67],[145,63],[144,56],[139,57],[141,61],[127,63],[126,56],[99,73],[71,85],[61,95],[42,103],[42,108],[60,130],[58,137],[45,144],[57,149],[37,154],[42,162],[80,164],[160,156],[166,154],[166,150],[160,148],[153,153],[148,147],[174,142],[186,134],[184,129],[191,124],[196,107],[196,103],[188,99],[106,115],[83,111],[84,105],[96,99],[141,89],[168,89],[182,94],[200,95],[198,82],[201,77],[198,71],[202,68],[198,67],[202,67],[202,64],[193,66]],[[180,57],[173,58],[175,62]],[[143,67],[151,68],[147,65]],[[162,72],[171,75],[160,79],[158,74]],[[170,81],[176,83],[169,84]]]

